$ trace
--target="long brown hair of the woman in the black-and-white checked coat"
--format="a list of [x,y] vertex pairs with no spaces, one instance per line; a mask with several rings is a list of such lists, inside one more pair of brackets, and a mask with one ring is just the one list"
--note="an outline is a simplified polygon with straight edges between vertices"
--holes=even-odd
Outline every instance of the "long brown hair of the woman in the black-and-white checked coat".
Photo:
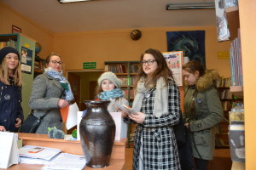
[[[153,55],[155,61],[157,62],[157,69],[154,71],[152,77],[150,77],[149,80],[147,80],[148,75],[143,71],[144,54]],[[157,80],[160,77],[163,77],[167,83],[168,78],[173,79],[172,71],[169,69],[164,55],[159,50],[153,49],[153,48],[148,48],[143,54],[141,54],[136,84],[141,78],[144,78],[146,80],[146,83],[145,83],[146,87],[148,87],[148,85],[155,86]]]

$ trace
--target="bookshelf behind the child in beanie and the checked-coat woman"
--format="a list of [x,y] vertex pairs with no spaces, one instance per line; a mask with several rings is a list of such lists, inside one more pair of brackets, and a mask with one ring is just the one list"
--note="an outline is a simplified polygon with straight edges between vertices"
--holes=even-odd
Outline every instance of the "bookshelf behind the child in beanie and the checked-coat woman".
[[[139,68],[139,61],[105,61],[105,71],[112,71],[122,80],[122,90],[125,92],[125,98],[128,100],[129,105],[132,105],[134,99],[134,85]],[[128,142],[130,147],[133,141],[133,132],[136,124],[130,124],[128,128]]]

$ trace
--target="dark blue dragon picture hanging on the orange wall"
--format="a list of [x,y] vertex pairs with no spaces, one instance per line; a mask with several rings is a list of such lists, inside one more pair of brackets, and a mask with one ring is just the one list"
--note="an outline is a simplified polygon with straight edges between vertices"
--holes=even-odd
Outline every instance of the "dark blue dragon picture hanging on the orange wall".
[[206,68],[205,31],[167,31],[167,51],[183,51]]

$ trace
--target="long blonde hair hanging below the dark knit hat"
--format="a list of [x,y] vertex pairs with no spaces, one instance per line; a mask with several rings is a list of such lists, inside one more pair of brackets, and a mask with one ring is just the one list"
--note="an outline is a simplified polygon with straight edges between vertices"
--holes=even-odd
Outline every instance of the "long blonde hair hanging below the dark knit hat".
[[[15,69],[12,73],[14,75],[15,86],[21,86],[22,85],[22,77],[21,77],[20,61],[18,62],[18,65],[15,67]],[[0,65],[0,81],[3,82],[4,84],[10,85],[8,66],[7,66],[7,61],[6,61],[5,57],[3,58],[3,62]]]

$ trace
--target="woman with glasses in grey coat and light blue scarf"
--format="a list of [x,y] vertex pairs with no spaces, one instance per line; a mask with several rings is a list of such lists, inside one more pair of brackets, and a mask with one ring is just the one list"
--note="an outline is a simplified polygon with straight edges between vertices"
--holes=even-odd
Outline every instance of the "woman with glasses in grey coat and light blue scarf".
[[60,109],[67,107],[73,100],[73,94],[67,79],[62,76],[61,57],[51,53],[45,59],[46,69],[33,82],[29,105],[37,117],[44,116],[36,133],[48,133],[47,127],[62,129]]

